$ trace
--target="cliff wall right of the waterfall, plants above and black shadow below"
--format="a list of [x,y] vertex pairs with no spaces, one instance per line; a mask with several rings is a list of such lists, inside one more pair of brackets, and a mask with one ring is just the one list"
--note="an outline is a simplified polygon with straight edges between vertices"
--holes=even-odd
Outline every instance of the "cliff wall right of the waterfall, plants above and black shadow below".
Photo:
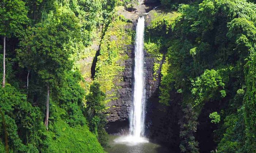
[[169,68],[168,60],[165,58],[166,46],[169,41],[169,27],[166,23],[173,23],[179,14],[167,12],[161,8],[150,11],[146,18],[146,30],[144,48],[151,57],[150,64],[147,64],[148,82],[147,90],[147,114],[146,133],[152,141],[164,144],[173,151],[179,152],[180,126],[179,119],[182,117],[180,101],[182,99],[177,93],[168,91],[168,101],[162,102],[159,98],[161,85],[165,81],[165,71]]

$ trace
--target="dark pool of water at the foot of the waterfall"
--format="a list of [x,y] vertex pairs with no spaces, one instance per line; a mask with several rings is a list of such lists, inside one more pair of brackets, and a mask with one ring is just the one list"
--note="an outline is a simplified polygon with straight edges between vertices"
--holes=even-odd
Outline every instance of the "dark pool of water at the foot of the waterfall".
[[119,144],[114,142],[120,136],[109,135],[110,147],[105,148],[108,153],[175,153],[169,148],[163,147],[152,142],[140,143],[136,145]]

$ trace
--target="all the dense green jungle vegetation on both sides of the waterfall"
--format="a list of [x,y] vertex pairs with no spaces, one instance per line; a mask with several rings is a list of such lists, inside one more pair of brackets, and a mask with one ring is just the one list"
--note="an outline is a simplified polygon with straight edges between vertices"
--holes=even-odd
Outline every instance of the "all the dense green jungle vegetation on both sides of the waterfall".
[[[144,48],[161,71],[159,103],[181,97],[180,152],[200,152],[199,117],[212,103],[212,152],[256,153],[256,1],[159,2]],[[135,35],[116,8],[135,4],[0,0],[0,152],[104,152],[105,104],[128,58],[120,44]],[[95,42],[99,52],[88,50]],[[95,76],[77,62],[88,54],[99,55]]]

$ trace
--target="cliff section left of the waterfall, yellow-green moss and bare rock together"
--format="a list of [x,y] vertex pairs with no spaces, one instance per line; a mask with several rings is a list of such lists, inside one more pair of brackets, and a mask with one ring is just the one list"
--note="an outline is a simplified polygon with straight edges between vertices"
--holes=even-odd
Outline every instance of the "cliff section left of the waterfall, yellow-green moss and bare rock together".
[[108,130],[114,133],[128,125],[136,18],[135,14],[126,11],[123,6],[115,8],[112,21],[101,40],[95,67],[94,80],[101,84],[101,90],[106,93],[109,125],[115,122]]

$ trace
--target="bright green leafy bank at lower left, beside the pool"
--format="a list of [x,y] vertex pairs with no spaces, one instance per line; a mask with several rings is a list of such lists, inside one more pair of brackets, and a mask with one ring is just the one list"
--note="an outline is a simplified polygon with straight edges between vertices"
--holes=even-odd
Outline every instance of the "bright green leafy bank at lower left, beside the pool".
[[[58,109],[61,111],[60,109]],[[97,142],[97,138],[84,126],[70,127],[65,121],[57,117],[52,125],[52,131],[46,133],[42,150],[45,153],[103,153],[103,148]]]

